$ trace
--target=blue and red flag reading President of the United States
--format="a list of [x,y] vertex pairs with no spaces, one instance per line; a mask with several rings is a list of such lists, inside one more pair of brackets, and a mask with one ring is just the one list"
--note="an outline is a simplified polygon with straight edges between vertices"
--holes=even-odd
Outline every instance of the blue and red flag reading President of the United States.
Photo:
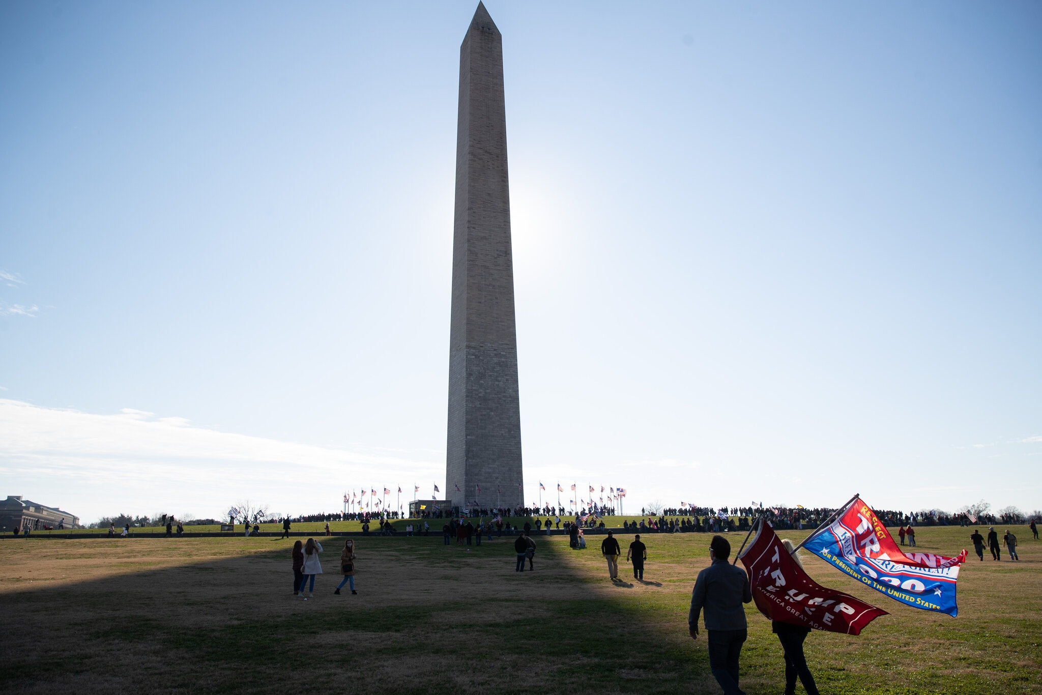
[[855,497],[803,547],[862,584],[914,609],[959,615],[956,582],[966,560],[901,552],[872,507]]

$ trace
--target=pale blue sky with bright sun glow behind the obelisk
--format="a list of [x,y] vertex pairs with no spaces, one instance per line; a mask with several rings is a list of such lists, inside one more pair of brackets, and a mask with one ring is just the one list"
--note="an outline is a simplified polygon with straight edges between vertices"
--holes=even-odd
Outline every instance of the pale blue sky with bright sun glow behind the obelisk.
[[[475,4],[0,4],[0,494],[441,485]],[[528,497],[1042,507],[1042,5],[488,7]]]

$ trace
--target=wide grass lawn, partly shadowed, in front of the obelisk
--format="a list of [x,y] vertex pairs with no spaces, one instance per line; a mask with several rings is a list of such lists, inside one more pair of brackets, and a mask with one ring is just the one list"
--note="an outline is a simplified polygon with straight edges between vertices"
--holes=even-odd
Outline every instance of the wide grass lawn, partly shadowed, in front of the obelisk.
[[[923,528],[919,547],[956,554],[969,532]],[[860,637],[808,638],[821,691],[1042,692],[1042,551],[1016,532],[1020,563],[971,554],[958,618],[804,556],[820,584],[890,612]],[[745,535],[727,536],[737,549]],[[7,539],[0,690],[718,693],[704,639],[687,635],[710,538],[646,535],[645,582],[615,585],[595,548],[572,550],[566,537],[537,537],[536,571],[524,573],[513,539],[468,549],[440,535],[363,538],[358,595],[332,595],[340,577],[324,574],[308,601],[292,595],[290,541],[278,538]],[[342,541],[322,540],[327,572]],[[780,646],[752,604],[746,613],[742,687],[780,694]]]

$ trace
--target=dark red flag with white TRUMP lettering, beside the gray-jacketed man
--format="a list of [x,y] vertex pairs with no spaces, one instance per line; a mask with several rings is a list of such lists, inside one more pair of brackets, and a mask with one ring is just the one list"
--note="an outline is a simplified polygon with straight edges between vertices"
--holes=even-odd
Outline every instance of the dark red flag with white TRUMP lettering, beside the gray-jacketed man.
[[859,635],[887,612],[808,576],[782,545],[766,519],[752,543],[738,556],[749,573],[752,600],[771,620],[832,632]]

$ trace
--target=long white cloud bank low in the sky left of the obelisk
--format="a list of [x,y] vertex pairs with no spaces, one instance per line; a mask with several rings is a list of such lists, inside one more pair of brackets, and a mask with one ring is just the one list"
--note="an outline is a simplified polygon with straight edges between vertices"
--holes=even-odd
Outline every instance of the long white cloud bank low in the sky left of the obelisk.
[[336,449],[133,408],[92,415],[0,399],[0,477],[19,488],[4,494],[60,505],[86,521],[121,510],[216,517],[246,497],[293,514],[332,512],[345,488],[412,490],[414,479],[441,479],[444,465],[444,453]]

